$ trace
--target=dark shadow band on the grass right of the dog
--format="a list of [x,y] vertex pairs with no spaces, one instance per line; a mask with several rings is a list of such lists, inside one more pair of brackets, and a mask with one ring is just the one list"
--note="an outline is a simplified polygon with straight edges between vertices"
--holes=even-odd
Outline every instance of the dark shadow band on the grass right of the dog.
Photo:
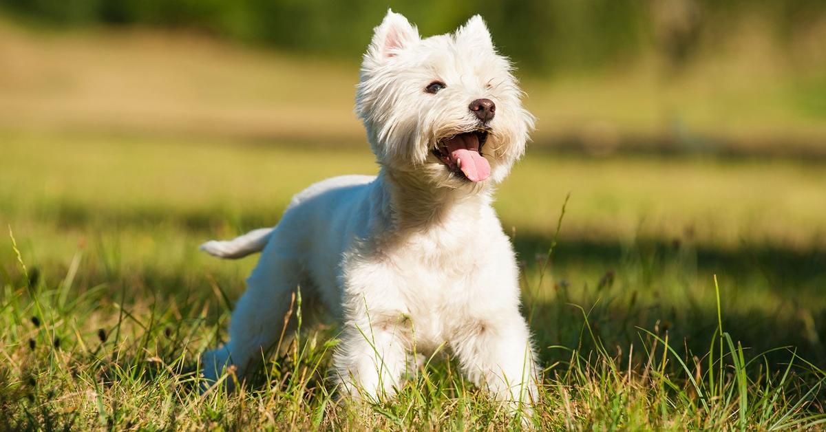
[[[546,237],[518,235],[523,257],[525,309],[539,346],[592,349],[591,331],[606,347],[626,352],[639,345],[638,328],[667,331],[678,351],[708,352],[718,325],[714,275],[721,281],[722,324],[752,355],[790,347],[826,368],[826,250],[771,246],[736,250],[680,242],[638,240],[563,241],[553,250],[545,292],[535,293],[536,274],[547,256]],[[553,286],[548,294],[548,286]],[[558,356],[546,353],[548,361]],[[788,352],[767,356],[775,365]]]

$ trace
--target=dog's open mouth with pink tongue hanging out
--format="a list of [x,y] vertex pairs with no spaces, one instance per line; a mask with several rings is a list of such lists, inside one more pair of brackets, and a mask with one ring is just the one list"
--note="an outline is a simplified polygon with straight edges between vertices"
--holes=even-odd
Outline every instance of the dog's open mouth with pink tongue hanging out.
[[491,164],[482,156],[487,133],[482,129],[443,138],[436,143],[433,154],[453,173],[481,182],[491,175]]

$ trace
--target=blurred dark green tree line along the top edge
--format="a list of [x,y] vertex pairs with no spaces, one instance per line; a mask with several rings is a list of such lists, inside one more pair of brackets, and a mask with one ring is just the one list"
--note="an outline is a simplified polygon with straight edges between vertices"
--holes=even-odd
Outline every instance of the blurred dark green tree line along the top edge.
[[422,35],[474,13],[522,69],[550,73],[621,65],[647,50],[680,64],[742,17],[759,16],[781,44],[823,25],[823,0],[0,0],[7,12],[55,24],[183,27],[282,50],[355,59],[392,7]]

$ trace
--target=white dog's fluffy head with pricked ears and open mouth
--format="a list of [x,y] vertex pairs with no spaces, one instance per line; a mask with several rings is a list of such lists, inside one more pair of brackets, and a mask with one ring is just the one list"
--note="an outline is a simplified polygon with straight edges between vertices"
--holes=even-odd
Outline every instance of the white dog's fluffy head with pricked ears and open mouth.
[[479,16],[420,39],[387,12],[364,55],[356,109],[379,164],[448,188],[499,182],[534,118]]

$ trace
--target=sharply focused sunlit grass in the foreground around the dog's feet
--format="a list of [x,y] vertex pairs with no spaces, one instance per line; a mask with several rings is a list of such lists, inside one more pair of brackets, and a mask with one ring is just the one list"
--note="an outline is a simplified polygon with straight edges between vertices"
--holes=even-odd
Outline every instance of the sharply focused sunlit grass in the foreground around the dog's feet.
[[[225,280],[225,271],[202,273],[193,263],[166,275],[171,278],[147,268],[122,273],[128,270],[116,255],[93,258],[79,250],[66,273],[36,276],[25,255],[15,255],[17,277],[4,284],[0,314],[6,359],[0,412],[12,429],[521,425],[464,381],[444,353],[392,401],[336,401],[325,372],[336,332],[327,327],[297,333],[239,392],[199,395],[197,357],[216,343],[229,316],[220,286],[240,282],[240,275]],[[108,282],[77,278],[94,274],[101,263],[111,272],[102,276]],[[527,309],[544,308],[530,316],[545,370],[529,423],[545,429],[775,430],[824,421],[818,400],[826,375],[793,349],[776,351],[784,358],[779,364],[744,351],[727,332],[716,286],[716,316],[706,317],[701,332],[700,346],[710,348],[692,351],[659,320],[651,330],[627,320],[611,323],[634,335],[627,344],[601,336],[598,326],[614,314],[589,304],[625,287],[599,283],[601,293],[584,307],[570,298],[553,305],[527,298]],[[525,284],[526,293],[531,288]],[[624,307],[635,315],[647,306],[630,301]],[[566,325],[555,325],[561,321]],[[548,344],[555,336],[570,343]]]

